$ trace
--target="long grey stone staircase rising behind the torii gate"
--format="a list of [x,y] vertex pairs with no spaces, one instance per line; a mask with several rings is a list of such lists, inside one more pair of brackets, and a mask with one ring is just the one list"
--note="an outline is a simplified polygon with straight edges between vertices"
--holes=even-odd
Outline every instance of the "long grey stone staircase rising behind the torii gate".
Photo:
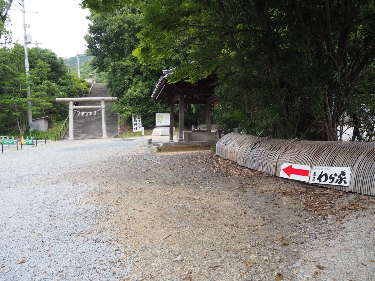
[[[86,94],[84,97],[110,97],[108,93],[109,89],[107,84],[94,84],[90,93]],[[78,104],[77,104],[78,105]],[[101,105],[100,102],[83,102],[79,105]],[[117,135],[117,121],[118,114],[111,112],[113,105],[109,102],[105,103],[105,116],[107,123],[107,136],[108,138],[113,138]],[[80,109],[81,112],[93,112],[98,109]],[[78,115],[78,112],[75,112],[74,115],[74,139],[94,139],[101,138],[103,136],[102,130],[102,111],[99,110],[96,112],[96,115],[92,113],[86,117],[85,115]],[[65,135],[62,139],[69,138],[69,126],[66,130]]]

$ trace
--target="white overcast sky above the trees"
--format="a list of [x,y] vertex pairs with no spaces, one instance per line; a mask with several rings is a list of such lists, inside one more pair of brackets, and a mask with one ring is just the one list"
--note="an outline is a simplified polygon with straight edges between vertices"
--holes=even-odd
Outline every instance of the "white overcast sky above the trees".
[[[13,10],[9,12],[12,26],[13,42],[23,45],[23,19],[21,0],[13,1]],[[43,49],[52,50],[58,57],[73,57],[78,51],[83,54],[86,42],[83,37],[87,34],[90,15],[89,10],[78,6],[79,0],[25,0],[26,33],[31,35],[31,42],[37,41]],[[20,10],[21,9],[21,10]],[[32,48],[33,44],[28,47]]]

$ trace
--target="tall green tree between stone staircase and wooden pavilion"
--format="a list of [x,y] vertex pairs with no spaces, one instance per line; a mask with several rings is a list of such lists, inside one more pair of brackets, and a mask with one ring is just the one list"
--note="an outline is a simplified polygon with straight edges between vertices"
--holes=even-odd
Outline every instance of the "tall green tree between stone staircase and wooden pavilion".
[[136,34],[142,29],[140,16],[138,10],[128,9],[110,14],[93,14],[89,17],[92,23],[85,39],[87,54],[95,56],[92,65],[99,72],[108,72],[110,93],[118,97],[114,110],[125,121],[130,121],[132,115],[138,115],[142,117],[144,127],[152,127],[153,112],[163,108],[151,98],[151,92],[162,73],[160,70],[150,70],[132,55],[139,45]]

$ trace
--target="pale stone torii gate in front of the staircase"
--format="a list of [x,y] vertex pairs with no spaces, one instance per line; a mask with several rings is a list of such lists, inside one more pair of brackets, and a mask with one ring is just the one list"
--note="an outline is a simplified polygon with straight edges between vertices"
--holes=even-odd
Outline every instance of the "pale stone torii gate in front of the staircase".
[[[117,102],[117,97],[72,97],[57,98],[58,103],[69,103],[69,141],[74,140],[74,110],[73,109],[102,109],[102,139],[107,139],[107,124],[105,121],[105,102]],[[101,105],[74,106],[77,102],[101,102]]]

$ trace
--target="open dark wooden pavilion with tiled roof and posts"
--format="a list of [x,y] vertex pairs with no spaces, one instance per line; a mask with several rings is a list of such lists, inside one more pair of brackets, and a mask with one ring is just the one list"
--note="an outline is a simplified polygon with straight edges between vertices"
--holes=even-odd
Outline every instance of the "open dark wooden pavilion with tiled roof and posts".
[[171,105],[169,121],[169,142],[173,142],[174,106],[178,104],[178,141],[184,141],[184,105],[202,104],[206,109],[207,132],[211,132],[210,105],[218,100],[214,94],[217,88],[217,78],[209,75],[196,83],[178,81],[173,84],[168,83],[168,77],[174,72],[173,69],[163,70],[159,82],[151,95],[156,101],[164,99]]

